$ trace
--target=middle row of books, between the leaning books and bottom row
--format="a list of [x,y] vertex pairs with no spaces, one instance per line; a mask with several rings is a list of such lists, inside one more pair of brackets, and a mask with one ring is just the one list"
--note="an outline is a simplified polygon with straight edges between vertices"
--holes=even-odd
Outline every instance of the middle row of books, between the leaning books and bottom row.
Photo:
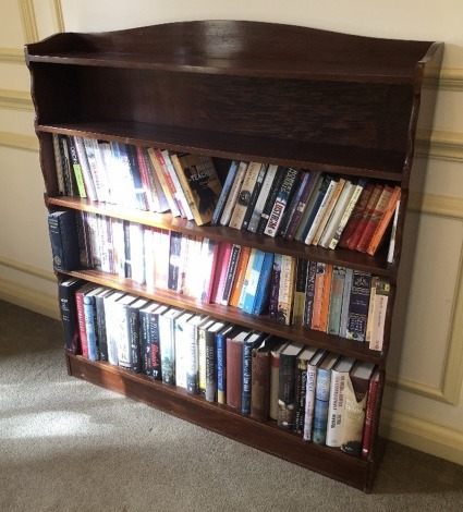
[[[285,325],[307,326],[382,350],[387,279],[74,210],[49,214],[52,241],[57,219],[65,218],[71,218],[70,223],[81,221],[83,266],[146,283],[148,289],[268,315]],[[62,231],[70,236],[69,227]]]

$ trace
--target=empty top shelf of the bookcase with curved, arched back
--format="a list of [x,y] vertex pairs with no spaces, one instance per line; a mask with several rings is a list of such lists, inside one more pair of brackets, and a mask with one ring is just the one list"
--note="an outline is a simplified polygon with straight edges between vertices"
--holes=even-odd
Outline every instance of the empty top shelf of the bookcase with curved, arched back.
[[439,45],[277,23],[194,21],[28,45],[31,62],[234,76],[416,84]]

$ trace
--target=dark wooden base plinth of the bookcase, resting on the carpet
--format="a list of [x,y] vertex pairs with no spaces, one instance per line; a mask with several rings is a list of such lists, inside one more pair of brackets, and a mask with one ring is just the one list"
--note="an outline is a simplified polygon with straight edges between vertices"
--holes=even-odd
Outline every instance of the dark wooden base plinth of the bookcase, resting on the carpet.
[[277,423],[257,422],[227,405],[207,402],[202,395],[166,386],[103,362],[66,354],[68,373],[73,377],[115,391],[186,422],[207,428],[257,450],[370,492],[376,464],[340,450],[303,441]]

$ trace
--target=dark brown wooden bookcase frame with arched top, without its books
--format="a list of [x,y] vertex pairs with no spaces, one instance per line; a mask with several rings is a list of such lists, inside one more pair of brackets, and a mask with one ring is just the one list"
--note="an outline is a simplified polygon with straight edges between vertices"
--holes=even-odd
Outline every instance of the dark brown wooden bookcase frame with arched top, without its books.
[[[280,252],[387,277],[395,291],[409,183],[419,133],[422,161],[429,143],[443,45],[358,37],[257,22],[171,23],[101,34],[58,34],[27,45],[36,133],[49,210],[96,211],[147,225]],[[424,85],[426,86],[424,88]],[[426,94],[425,94],[426,93]],[[329,171],[399,184],[402,188],[392,264],[386,251],[368,256],[229,228],[196,227],[171,216],[127,211],[60,196],[52,134],[207,154],[222,180],[231,159]],[[222,162],[222,164],[220,164]],[[217,319],[284,336],[376,363],[385,385],[393,297],[385,346],[264,316],[148,290],[95,270],[58,273],[134,292]],[[401,340],[393,340],[400,343]],[[165,412],[369,491],[380,450],[377,403],[368,460],[303,441],[276,422],[259,423],[224,405],[102,362],[65,355],[71,375],[151,404]]]

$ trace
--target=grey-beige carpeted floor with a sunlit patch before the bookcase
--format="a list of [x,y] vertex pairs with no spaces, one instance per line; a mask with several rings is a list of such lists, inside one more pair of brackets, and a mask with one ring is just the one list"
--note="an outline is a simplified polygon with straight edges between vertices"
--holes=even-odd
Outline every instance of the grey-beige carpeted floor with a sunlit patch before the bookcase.
[[460,511],[463,467],[389,442],[371,495],[68,377],[58,321],[0,301],[0,510]]

